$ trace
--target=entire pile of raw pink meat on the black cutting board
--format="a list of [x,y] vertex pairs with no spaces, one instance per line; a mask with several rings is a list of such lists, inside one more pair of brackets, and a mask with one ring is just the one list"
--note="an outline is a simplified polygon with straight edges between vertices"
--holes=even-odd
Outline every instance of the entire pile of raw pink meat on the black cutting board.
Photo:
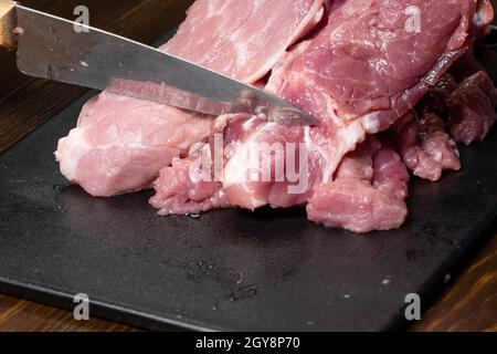
[[[95,195],[146,188],[160,169],[150,204],[162,216],[302,205],[325,226],[398,228],[408,216],[408,167],[430,180],[459,169],[447,131],[479,139],[497,118],[497,92],[472,49],[493,15],[487,0],[199,0],[162,50],[257,81],[321,124],[193,117],[186,140],[169,142],[188,113],[104,93],[61,140],[61,168]],[[120,100],[129,102],[108,105]],[[148,114],[126,108],[138,103],[178,124],[168,131],[156,119],[148,131]],[[116,123],[119,115],[130,123]],[[144,133],[134,135],[137,122]],[[161,150],[140,155],[137,136]]]

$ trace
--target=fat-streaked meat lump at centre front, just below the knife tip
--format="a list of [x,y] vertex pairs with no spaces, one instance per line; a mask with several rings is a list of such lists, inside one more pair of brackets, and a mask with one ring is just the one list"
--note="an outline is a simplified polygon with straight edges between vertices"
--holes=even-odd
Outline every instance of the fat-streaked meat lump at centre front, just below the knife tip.
[[[223,188],[234,206],[288,208],[310,192],[304,129],[265,123],[257,116],[230,122],[224,131]],[[302,164],[300,164],[302,162]],[[295,176],[295,177],[292,177]],[[290,190],[295,188],[295,192]]]

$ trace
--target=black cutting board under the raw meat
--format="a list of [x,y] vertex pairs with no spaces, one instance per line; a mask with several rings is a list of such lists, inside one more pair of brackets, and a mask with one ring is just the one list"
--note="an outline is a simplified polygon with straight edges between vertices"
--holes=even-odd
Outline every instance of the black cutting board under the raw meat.
[[410,220],[388,232],[298,208],[161,218],[150,192],[92,198],[53,157],[91,95],[0,156],[0,292],[66,309],[86,293],[91,315],[152,330],[399,330],[405,295],[427,306],[496,220],[497,132],[461,148],[462,171],[413,179]]

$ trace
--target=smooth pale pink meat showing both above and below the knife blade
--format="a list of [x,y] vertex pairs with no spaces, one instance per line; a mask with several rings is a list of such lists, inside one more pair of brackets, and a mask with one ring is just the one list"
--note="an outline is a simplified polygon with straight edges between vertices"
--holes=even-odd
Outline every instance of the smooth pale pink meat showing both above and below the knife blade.
[[[322,0],[199,0],[160,49],[255,83],[322,13]],[[106,91],[84,107],[55,157],[62,174],[93,196],[137,191],[205,140],[212,124],[212,117]]]

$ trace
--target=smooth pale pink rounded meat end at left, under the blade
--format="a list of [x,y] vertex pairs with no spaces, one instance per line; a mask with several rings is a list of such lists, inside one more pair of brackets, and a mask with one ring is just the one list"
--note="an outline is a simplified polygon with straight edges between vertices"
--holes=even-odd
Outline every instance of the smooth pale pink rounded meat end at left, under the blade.
[[78,125],[59,142],[62,174],[93,196],[151,186],[158,170],[205,139],[212,121],[109,93],[89,101]]

